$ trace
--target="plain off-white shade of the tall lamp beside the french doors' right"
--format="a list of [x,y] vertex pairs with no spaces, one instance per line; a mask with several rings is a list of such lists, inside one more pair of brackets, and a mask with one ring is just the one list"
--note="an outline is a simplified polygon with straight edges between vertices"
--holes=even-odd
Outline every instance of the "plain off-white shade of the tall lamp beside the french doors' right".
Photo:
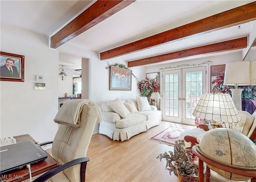
[[236,61],[227,63],[224,74],[224,85],[250,85],[250,62]]

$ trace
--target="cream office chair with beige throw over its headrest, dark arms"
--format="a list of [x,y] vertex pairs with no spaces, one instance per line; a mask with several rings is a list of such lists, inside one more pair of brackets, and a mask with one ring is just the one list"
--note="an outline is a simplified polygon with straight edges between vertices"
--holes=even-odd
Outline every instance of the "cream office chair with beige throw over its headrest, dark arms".
[[94,126],[101,119],[98,106],[90,100],[64,102],[54,119],[60,127],[52,142],[52,156],[60,166],[44,173],[34,182],[84,182],[86,164],[90,160],[86,157],[87,149]]

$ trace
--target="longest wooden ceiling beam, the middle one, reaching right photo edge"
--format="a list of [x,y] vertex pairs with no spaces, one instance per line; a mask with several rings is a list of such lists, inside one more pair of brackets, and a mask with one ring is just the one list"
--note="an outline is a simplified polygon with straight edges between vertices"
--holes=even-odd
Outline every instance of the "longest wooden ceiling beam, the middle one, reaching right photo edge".
[[110,49],[100,53],[100,60],[118,57],[128,53],[148,49],[150,47],[161,45],[177,39],[184,39],[185,37],[196,34],[203,34],[223,29],[241,23],[256,20],[256,2],[240,6],[196,22],[188,23],[180,27]]

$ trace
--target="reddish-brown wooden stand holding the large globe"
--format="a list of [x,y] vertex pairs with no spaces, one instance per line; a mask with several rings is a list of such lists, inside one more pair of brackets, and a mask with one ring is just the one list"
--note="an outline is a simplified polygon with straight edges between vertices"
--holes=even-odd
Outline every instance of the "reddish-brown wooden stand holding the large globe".
[[[224,166],[220,163],[214,162],[211,159],[208,159],[207,157],[204,157],[200,152],[198,152],[196,145],[192,147],[192,151],[196,157],[198,157],[198,176],[199,176],[199,182],[204,182],[204,162],[206,164],[209,164],[211,166],[214,166],[216,168],[219,168],[221,170],[227,171],[227,172],[232,172],[234,174],[239,174],[241,176],[249,176],[253,177],[251,179],[251,182],[256,182],[256,171],[254,170],[242,170],[242,169],[237,169],[237,168],[232,168],[228,166]],[[211,181],[211,173],[210,173],[210,168],[207,166],[206,167],[206,182]]]

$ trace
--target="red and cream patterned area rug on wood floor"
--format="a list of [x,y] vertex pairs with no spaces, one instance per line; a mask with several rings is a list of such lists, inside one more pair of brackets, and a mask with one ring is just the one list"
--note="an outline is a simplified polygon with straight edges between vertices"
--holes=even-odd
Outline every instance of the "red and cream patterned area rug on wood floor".
[[161,131],[154,137],[151,137],[151,141],[156,141],[161,144],[166,144],[169,146],[174,146],[175,141],[178,140],[180,133],[183,133],[184,131],[187,131],[188,129],[184,128],[173,128],[168,127],[164,131]]

